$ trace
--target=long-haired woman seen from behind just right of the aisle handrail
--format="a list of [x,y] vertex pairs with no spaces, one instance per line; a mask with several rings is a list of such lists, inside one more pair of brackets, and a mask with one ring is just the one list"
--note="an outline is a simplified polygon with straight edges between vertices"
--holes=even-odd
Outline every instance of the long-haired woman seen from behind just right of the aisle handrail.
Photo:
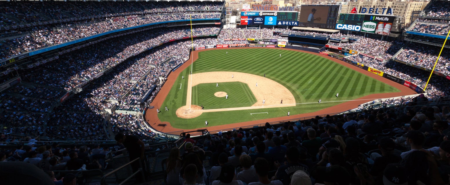
[[180,185],[178,176],[181,170],[180,150],[174,147],[170,150],[169,158],[166,161],[166,181],[168,185]]

